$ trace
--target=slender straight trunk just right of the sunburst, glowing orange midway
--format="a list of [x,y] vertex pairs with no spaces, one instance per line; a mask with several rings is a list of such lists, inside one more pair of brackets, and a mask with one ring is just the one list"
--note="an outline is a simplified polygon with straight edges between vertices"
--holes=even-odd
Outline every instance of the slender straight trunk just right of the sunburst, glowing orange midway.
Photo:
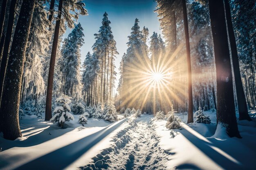
[[184,31],[186,38],[186,59],[188,64],[188,84],[189,84],[189,105],[188,105],[188,124],[192,123],[193,120],[193,95],[192,95],[192,71],[191,71],[191,59],[190,59],[190,44],[189,44],[189,25],[188,25],[188,17],[186,13],[186,1],[182,0],[182,10],[183,10],[183,18],[184,18]]

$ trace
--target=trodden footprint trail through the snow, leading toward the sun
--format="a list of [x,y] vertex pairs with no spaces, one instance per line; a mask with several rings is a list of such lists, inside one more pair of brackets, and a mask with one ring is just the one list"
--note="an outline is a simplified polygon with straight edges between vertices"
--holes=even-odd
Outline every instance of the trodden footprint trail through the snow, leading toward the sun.
[[83,170],[165,170],[168,152],[159,145],[151,116],[130,119],[119,131],[115,143],[92,158]]

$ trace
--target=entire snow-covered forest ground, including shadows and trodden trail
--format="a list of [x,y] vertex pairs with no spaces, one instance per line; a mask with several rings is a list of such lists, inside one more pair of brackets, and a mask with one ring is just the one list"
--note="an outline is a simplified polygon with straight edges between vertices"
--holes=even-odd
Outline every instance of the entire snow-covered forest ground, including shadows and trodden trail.
[[[23,137],[8,141],[0,134],[0,170],[253,170],[256,167],[256,120],[238,121],[243,139],[216,129],[216,113],[205,112],[211,124],[184,124],[168,130],[166,120],[152,115],[124,118],[111,124],[88,119],[69,128],[26,115]],[[186,113],[176,114],[186,122]]]

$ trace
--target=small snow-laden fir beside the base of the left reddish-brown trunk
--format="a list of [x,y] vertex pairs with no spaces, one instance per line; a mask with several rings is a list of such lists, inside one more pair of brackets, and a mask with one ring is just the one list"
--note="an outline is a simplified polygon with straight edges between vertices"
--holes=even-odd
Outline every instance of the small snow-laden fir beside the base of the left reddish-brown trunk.
[[58,126],[61,126],[61,128],[66,126],[65,121],[70,121],[70,119],[74,120],[73,115],[69,113],[71,109],[68,104],[71,103],[71,99],[71,97],[64,96],[55,100],[57,107],[53,110],[54,116],[50,121],[58,123]]

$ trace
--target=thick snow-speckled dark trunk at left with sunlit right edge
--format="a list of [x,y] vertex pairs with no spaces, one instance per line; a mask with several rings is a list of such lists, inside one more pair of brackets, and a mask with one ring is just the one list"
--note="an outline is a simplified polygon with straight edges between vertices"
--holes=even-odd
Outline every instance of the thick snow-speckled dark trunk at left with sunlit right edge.
[[23,0],[22,2],[4,81],[0,127],[4,138],[9,140],[22,136],[19,125],[20,90],[34,6],[35,0]]

